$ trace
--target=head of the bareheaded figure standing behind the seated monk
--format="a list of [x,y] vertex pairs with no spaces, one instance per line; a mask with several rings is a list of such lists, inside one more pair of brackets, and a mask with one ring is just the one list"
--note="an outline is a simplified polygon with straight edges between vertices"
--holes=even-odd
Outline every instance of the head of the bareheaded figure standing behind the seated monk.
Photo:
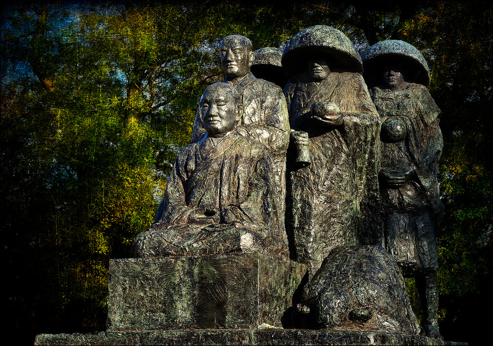
[[242,36],[227,36],[221,44],[221,65],[228,78],[246,76],[255,58]]

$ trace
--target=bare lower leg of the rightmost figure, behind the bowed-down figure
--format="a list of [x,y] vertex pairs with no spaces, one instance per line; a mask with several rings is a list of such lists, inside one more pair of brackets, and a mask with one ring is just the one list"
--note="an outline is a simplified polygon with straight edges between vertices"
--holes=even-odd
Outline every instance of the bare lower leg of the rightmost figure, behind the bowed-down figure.
[[427,271],[417,276],[416,283],[423,306],[425,335],[443,340],[438,331],[438,281],[436,271]]

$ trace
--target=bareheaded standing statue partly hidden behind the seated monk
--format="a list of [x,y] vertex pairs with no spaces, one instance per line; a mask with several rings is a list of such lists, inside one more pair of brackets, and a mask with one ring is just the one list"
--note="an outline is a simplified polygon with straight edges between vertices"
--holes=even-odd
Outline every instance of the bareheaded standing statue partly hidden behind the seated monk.
[[[284,220],[289,120],[282,89],[274,83],[255,78],[250,72],[255,55],[248,38],[241,35],[226,36],[221,42],[220,58],[224,82],[238,91],[241,103],[244,104],[237,131],[263,144],[272,154],[276,201]],[[197,113],[191,142],[198,141],[204,133],[204,124]]]

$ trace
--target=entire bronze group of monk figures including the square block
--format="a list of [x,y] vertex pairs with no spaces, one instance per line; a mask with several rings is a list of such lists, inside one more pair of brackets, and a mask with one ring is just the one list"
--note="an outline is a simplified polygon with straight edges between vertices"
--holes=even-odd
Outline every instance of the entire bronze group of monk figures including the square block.
[[133,258],[110,262],[108,331],[419,335],[410,276],[424,334],[443,339],[443,141],[423,55],[387,40],[360,57],[343,32],[314,26],[283,51],[227,36],[220,61],[224,81],[200,99],[154,222]]

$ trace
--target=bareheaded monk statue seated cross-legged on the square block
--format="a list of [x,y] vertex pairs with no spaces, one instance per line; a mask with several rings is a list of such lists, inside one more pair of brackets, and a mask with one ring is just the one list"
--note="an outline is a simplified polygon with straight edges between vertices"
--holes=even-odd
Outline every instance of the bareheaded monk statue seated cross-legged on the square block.
[[212,84],[200,109],[207,135],[178,154],[154,223],[136,237],[132,254],[259,252],[287,259],[271,154],[236,132],[243,110],[238,92]]

